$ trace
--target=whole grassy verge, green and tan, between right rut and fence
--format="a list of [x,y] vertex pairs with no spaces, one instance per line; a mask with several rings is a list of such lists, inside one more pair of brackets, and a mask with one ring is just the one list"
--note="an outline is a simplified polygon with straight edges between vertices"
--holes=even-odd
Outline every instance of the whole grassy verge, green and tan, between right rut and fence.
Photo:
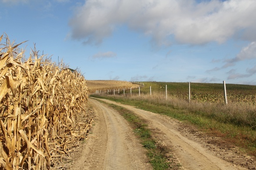
[[195,125],[200,131],[220,137],[227,144],[235,145],[246,154],[256,156],[256,111],[248,105],[218,105],[210,103],[192,103],[180,99],[149,98],[147,96],[100,96],[127,105],[133,105],[146,111],[165,114]]

